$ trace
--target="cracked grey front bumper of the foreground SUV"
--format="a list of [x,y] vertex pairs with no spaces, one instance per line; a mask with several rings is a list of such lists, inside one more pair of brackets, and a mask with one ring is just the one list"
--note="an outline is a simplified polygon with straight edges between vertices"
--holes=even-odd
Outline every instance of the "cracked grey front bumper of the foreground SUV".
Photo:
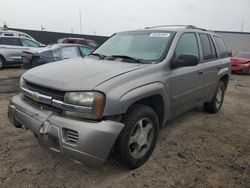
[[14,96],[8,116],[38,136],[39,144],[52,151],[91,165],[102,164],[124,124],[115,121],[86,122],[60,116]]

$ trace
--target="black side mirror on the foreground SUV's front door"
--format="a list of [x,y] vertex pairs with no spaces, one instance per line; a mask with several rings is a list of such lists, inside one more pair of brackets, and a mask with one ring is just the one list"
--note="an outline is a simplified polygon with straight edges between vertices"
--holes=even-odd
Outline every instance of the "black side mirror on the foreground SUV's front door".
[[199,63],[199,59],[195,55],[183,54],[177,58],[173,58],[171,61],[171,67],[190,67],[196,66]]

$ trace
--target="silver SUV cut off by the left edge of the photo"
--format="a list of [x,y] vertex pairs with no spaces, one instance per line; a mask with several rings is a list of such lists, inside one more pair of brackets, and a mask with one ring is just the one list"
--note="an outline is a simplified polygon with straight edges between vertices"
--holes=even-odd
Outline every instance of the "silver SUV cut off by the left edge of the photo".
[[44,45],[25,37],[0,36],[0,69],[22,65],[24,50],[37,49]]

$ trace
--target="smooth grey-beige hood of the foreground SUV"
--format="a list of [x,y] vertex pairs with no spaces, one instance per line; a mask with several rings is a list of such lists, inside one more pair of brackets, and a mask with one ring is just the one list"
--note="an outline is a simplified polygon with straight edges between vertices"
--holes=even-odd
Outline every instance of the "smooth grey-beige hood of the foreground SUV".
[[93,90],[107,80],[145,66],[86,57],[45,64],[25,72],[23,78],[61,91]]

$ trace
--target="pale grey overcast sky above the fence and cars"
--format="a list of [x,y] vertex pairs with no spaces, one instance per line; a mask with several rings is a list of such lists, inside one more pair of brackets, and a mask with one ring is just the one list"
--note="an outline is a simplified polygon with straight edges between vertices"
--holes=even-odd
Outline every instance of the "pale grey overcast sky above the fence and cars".
[[0,25],[111,35],[163,24],[250,32],[250,0],[1,0]]

